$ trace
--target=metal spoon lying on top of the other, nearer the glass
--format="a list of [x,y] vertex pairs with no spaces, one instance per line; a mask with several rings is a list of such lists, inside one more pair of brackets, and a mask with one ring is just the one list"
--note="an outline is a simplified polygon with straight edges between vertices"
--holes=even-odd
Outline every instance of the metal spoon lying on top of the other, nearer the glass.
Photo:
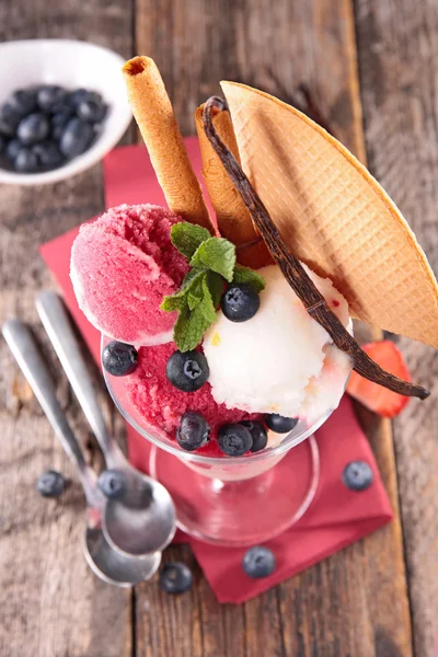
[[159,482],[132,468],[108,433],[70,318],[59,295],[53,290],[42,292],[36,300],[36,309],[99,440],[107,468],[120,470],[127,480],[124,495],[106,503],[103,530],[108,543],[125,554],[136,556],[163,550],[176,530],[175,507],[170,494]]

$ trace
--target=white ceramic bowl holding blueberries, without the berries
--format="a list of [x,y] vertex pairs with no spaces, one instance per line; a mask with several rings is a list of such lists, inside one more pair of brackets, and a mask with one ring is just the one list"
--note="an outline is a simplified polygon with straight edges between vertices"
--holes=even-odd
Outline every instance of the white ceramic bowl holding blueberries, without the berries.
[[99,162],[122,138],[132,114],[122,76],[124,59],[85,42],[68,39],[18,41],[0,44],[0,105],[16,89],[60,84],[97,91],[108,105],[102,131],[81,155],[44,173],[0,169],[0,183],[43,185],[76,175]]

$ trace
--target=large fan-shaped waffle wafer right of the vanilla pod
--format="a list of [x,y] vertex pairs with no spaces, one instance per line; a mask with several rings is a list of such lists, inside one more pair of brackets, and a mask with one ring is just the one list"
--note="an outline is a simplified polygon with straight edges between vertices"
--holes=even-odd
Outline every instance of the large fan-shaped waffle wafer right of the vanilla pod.
[[293,254],[328,276],[351,314],[438,347],[438,287],[369,172],[293,107],[223,82],[245,173]]

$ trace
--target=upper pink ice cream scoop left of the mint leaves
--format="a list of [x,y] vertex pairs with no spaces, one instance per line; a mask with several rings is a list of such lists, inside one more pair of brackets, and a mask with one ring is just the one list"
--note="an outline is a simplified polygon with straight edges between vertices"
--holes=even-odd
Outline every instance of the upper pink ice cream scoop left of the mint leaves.
[[176,313],[160,304],[188,272],[171,243],[177,221],[165,208],[122,205],[81,226],[70,277],[82,312],[108,337],[136,346],[172,339]]

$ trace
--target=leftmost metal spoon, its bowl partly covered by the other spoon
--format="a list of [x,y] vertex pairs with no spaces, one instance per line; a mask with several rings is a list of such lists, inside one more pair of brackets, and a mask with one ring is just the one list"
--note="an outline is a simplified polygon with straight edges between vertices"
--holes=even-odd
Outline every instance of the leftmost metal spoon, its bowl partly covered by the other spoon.
[[105,498],[96,486],[95,472],[85,462],[81,447],[56,399],[54,383],[30,328],[19,320],[10,320],[3,324],[2,332],[55,435],[78,469],[87,499],[83,552],[90,567],[97,577],[116,586],[128,587],[149,579],[160,565],[161,553],[155,552],[146,558],[126,556],[106,541],[101,527]]

